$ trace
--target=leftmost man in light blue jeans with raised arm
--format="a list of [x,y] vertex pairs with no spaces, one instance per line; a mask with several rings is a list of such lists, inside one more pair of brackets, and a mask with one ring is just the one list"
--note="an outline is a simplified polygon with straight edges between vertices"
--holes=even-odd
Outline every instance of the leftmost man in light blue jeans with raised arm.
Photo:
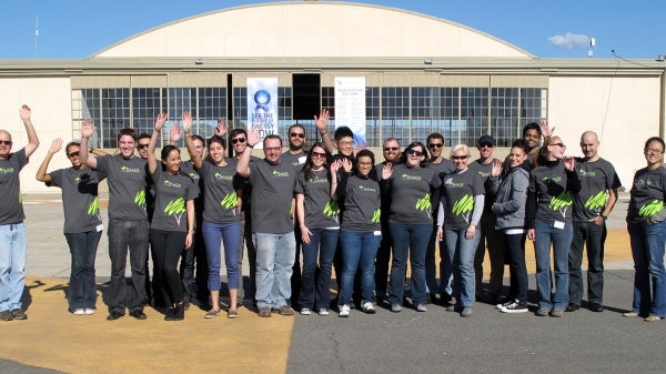
[[0,253],[3,253],[0,256],[0,321],[27,319],[21,296],[26,285],[28,243],[19,172],[39,146],[39,139],[30,121],[30,107],[23,104],[19,113],[28,133],[24,148],[11,152],[11,134],[0,130]]

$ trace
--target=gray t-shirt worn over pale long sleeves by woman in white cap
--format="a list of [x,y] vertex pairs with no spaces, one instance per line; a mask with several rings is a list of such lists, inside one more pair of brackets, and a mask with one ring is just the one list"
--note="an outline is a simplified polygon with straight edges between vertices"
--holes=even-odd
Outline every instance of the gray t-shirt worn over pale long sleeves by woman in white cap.
[[474,212],[474,196],[484,192],[481,175],[470,169],[446,174],[442,182],[442,194],[446,198],[444,229],[466,229]]

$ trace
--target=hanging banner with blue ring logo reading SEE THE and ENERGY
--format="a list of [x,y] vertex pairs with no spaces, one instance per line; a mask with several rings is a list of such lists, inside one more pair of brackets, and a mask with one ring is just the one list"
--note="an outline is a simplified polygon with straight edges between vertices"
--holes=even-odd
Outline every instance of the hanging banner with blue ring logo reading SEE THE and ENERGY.
[[278,134],[278,78],[248,78],[248,125],[259,129],[256,149],[266,135]]

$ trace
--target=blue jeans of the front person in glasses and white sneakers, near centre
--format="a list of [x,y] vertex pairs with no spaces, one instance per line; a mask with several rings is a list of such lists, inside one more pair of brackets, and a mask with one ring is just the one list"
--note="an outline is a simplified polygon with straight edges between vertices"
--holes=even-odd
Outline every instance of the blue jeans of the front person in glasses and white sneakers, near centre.
[[340,305],[350,305],[356,270],[361,270],[362,303],[372,302],[374,292],[374,261],[382,235],[374,232],[340,231],[342,276]]

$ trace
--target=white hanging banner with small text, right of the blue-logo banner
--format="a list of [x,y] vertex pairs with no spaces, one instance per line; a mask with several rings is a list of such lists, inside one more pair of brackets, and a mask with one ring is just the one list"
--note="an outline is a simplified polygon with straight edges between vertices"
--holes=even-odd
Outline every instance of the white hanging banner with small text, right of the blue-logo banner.
[[366,148],[365,77],[335,77],[335,127],[354,132],[356,148]]

